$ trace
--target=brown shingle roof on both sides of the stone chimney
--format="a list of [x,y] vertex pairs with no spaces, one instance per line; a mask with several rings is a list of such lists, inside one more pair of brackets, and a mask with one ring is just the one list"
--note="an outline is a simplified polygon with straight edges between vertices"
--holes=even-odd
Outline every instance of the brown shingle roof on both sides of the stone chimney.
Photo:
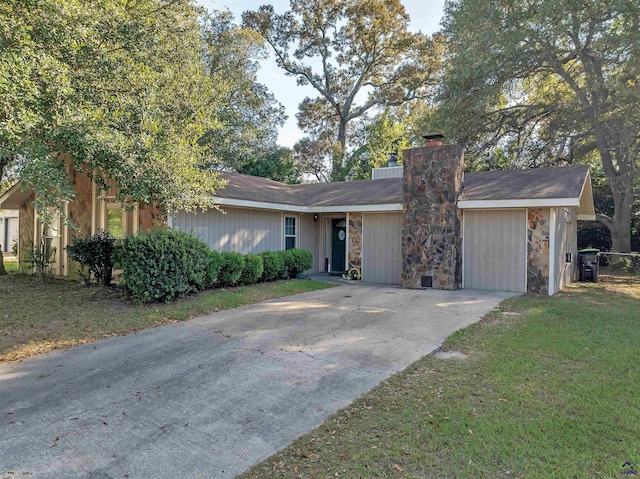
[[[588,166],[466,173],[460,200],[579,198]],[[402,203],[402,178],[287,185],[224,172],[219,198],[295,206],[380,205]]]

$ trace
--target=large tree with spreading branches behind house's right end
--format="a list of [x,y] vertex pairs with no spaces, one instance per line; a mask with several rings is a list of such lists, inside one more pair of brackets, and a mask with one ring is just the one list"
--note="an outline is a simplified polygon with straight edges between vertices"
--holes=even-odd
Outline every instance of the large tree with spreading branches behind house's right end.
[[470,153],[520,166],[595,162],[630,250],[640,149],[640,4],[634,0],[458,0],[443,20],[449,62],[441,117]]

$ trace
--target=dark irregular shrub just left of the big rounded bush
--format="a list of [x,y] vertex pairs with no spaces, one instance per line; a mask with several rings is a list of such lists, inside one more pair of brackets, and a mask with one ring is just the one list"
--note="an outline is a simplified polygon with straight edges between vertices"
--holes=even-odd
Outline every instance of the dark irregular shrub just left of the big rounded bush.
[[[73,244],[66,247],[69,258],[81,266],[80,280],[91,283],[91,276],[98,284],[109,286],[113,272],[113,251],[116,239],[111,233],[98,230],[93,236],[74,236]],[[85,274],[85,268],[88,274]]]

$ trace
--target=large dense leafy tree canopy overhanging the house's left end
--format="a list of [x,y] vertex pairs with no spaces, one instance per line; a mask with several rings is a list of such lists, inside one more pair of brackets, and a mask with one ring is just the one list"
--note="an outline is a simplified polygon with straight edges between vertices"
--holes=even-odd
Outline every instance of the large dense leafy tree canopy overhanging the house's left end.
[[0,5],[0,177],[19,167],[45,221],[74,195],[65,156],[99,184],[116,180],[123,203],[211,202],[220,182],[198,140],[216,90],[200,13],[189,0]]

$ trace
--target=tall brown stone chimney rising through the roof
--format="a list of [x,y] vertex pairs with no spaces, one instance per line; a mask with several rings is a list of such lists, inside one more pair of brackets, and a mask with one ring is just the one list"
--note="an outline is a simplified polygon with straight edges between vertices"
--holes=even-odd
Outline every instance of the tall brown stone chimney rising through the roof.
[[406,150],[402,286],[421,288],[423,276],[435,289],[462,284],[462,212],[456,201],[462,189],[463,150],[439,145]]

